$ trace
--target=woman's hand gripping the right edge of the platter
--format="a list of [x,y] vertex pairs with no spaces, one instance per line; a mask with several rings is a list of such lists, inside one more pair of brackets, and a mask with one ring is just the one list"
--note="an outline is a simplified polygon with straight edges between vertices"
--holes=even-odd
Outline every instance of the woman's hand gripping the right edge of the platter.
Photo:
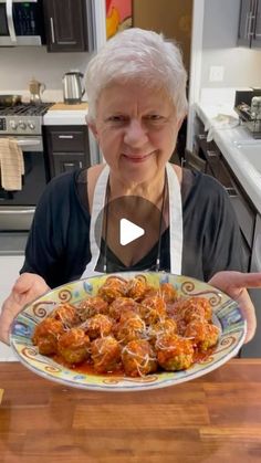
[[218,272],[209,281],[209,284],[238,302],[248,325],[244,343],[251,340],[257,329],[257,318],[247,288],[261,288],[261,273]]

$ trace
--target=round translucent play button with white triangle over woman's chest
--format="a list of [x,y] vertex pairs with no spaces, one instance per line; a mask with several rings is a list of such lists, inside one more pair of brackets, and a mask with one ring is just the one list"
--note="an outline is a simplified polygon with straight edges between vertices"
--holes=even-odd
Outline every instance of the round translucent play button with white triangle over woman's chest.
[[115,269],[115,265],[119,266],[117,261],[125,266],[132,266],[144,257],[146,260],[150,252],[157,253],[159,234],[165,230],[161,201],[158,208],[138,196],[125,196],[108,201],[101,208],[94,224],[100,265],[106,261],[109,272],[114,271],[109,269]]

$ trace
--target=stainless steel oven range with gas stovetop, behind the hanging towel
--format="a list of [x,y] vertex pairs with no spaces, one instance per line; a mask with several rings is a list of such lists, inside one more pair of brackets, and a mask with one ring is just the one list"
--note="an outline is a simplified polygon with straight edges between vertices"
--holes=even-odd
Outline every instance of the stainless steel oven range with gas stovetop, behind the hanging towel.
[[21,191],[7,191],[0,180],[0,231],[29,230],[35,204],[50,176],[43,151],[42,116],[51,103],[1,104],[0,137],[15,138],[23,152]]

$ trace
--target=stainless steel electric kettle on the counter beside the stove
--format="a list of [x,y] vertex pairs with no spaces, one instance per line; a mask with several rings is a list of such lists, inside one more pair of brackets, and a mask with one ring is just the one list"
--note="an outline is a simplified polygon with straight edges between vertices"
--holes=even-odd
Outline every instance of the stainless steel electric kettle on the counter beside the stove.
[[64,103],[73,105],[81,103],[85,90],[82,85],[83,74],[79,71],[71,71],[63,76],[63,99]]

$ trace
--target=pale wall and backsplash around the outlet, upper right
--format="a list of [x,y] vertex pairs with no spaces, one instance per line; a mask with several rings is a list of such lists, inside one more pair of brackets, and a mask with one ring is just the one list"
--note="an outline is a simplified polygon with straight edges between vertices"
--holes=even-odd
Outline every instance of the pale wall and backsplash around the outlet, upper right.
[[[205,0],[201,87],[261,86],[261,49],[237,46],[240,0]],[[223,80],[210,82],[210,66]]]

